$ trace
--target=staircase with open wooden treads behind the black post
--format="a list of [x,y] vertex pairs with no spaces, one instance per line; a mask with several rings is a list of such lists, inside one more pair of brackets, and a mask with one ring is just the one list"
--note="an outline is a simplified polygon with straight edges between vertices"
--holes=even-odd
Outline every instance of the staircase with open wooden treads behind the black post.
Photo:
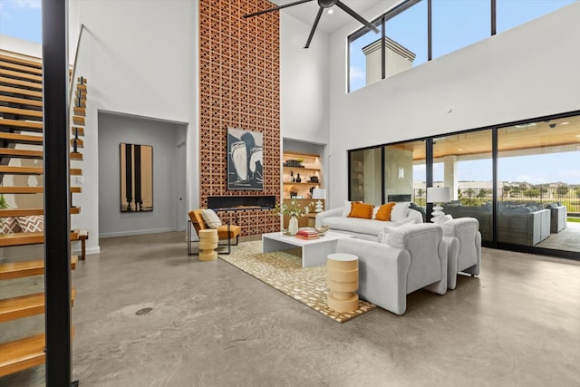
[[[71,153],[72,162],[81,161],[86,115],[86,79],[76,80],[72,102]],[[0,53],[0,195],[11,203],[0,209],[0,228],[12,218],[43,216],[43,70],[40,59],[23,58]],[[71,168],[72,176],[82,175],[82,169]],[[73,194],[80,187],[71,187]],[[14,203],[14,204],[13,204]],[[71,214],[81,208],[72,207]],[[34,281],[43,276],[44,260],[38,256],[26,258],[25,246],[43,244],[42,231],[0,231],[0,332],[2,324],[44,313],[44,293],[34,292],[5,297],[4,289],[26,289],[31,286],[10,286],[10,281]],[[78,230],[71,233],[77,240]],[[8,248],[8,250],[6,250]],[[15,250],[14,250],[15,249]],[[21,250],[18,250],[21,249]],[[15,254],[14,254],[15,252]],[[17,256],[17,257],[11,257]],[[24,256],[24,258],[23,258]],[[71,269],[78,257],[72,256]],[[24,290],[21,290],[25,292]],[[72,289],[71,305],[75,290]],[[73,333],[73,330],[72,330]],[[44,334],[25,337],[0,337],[0,377],[44,363]]]

